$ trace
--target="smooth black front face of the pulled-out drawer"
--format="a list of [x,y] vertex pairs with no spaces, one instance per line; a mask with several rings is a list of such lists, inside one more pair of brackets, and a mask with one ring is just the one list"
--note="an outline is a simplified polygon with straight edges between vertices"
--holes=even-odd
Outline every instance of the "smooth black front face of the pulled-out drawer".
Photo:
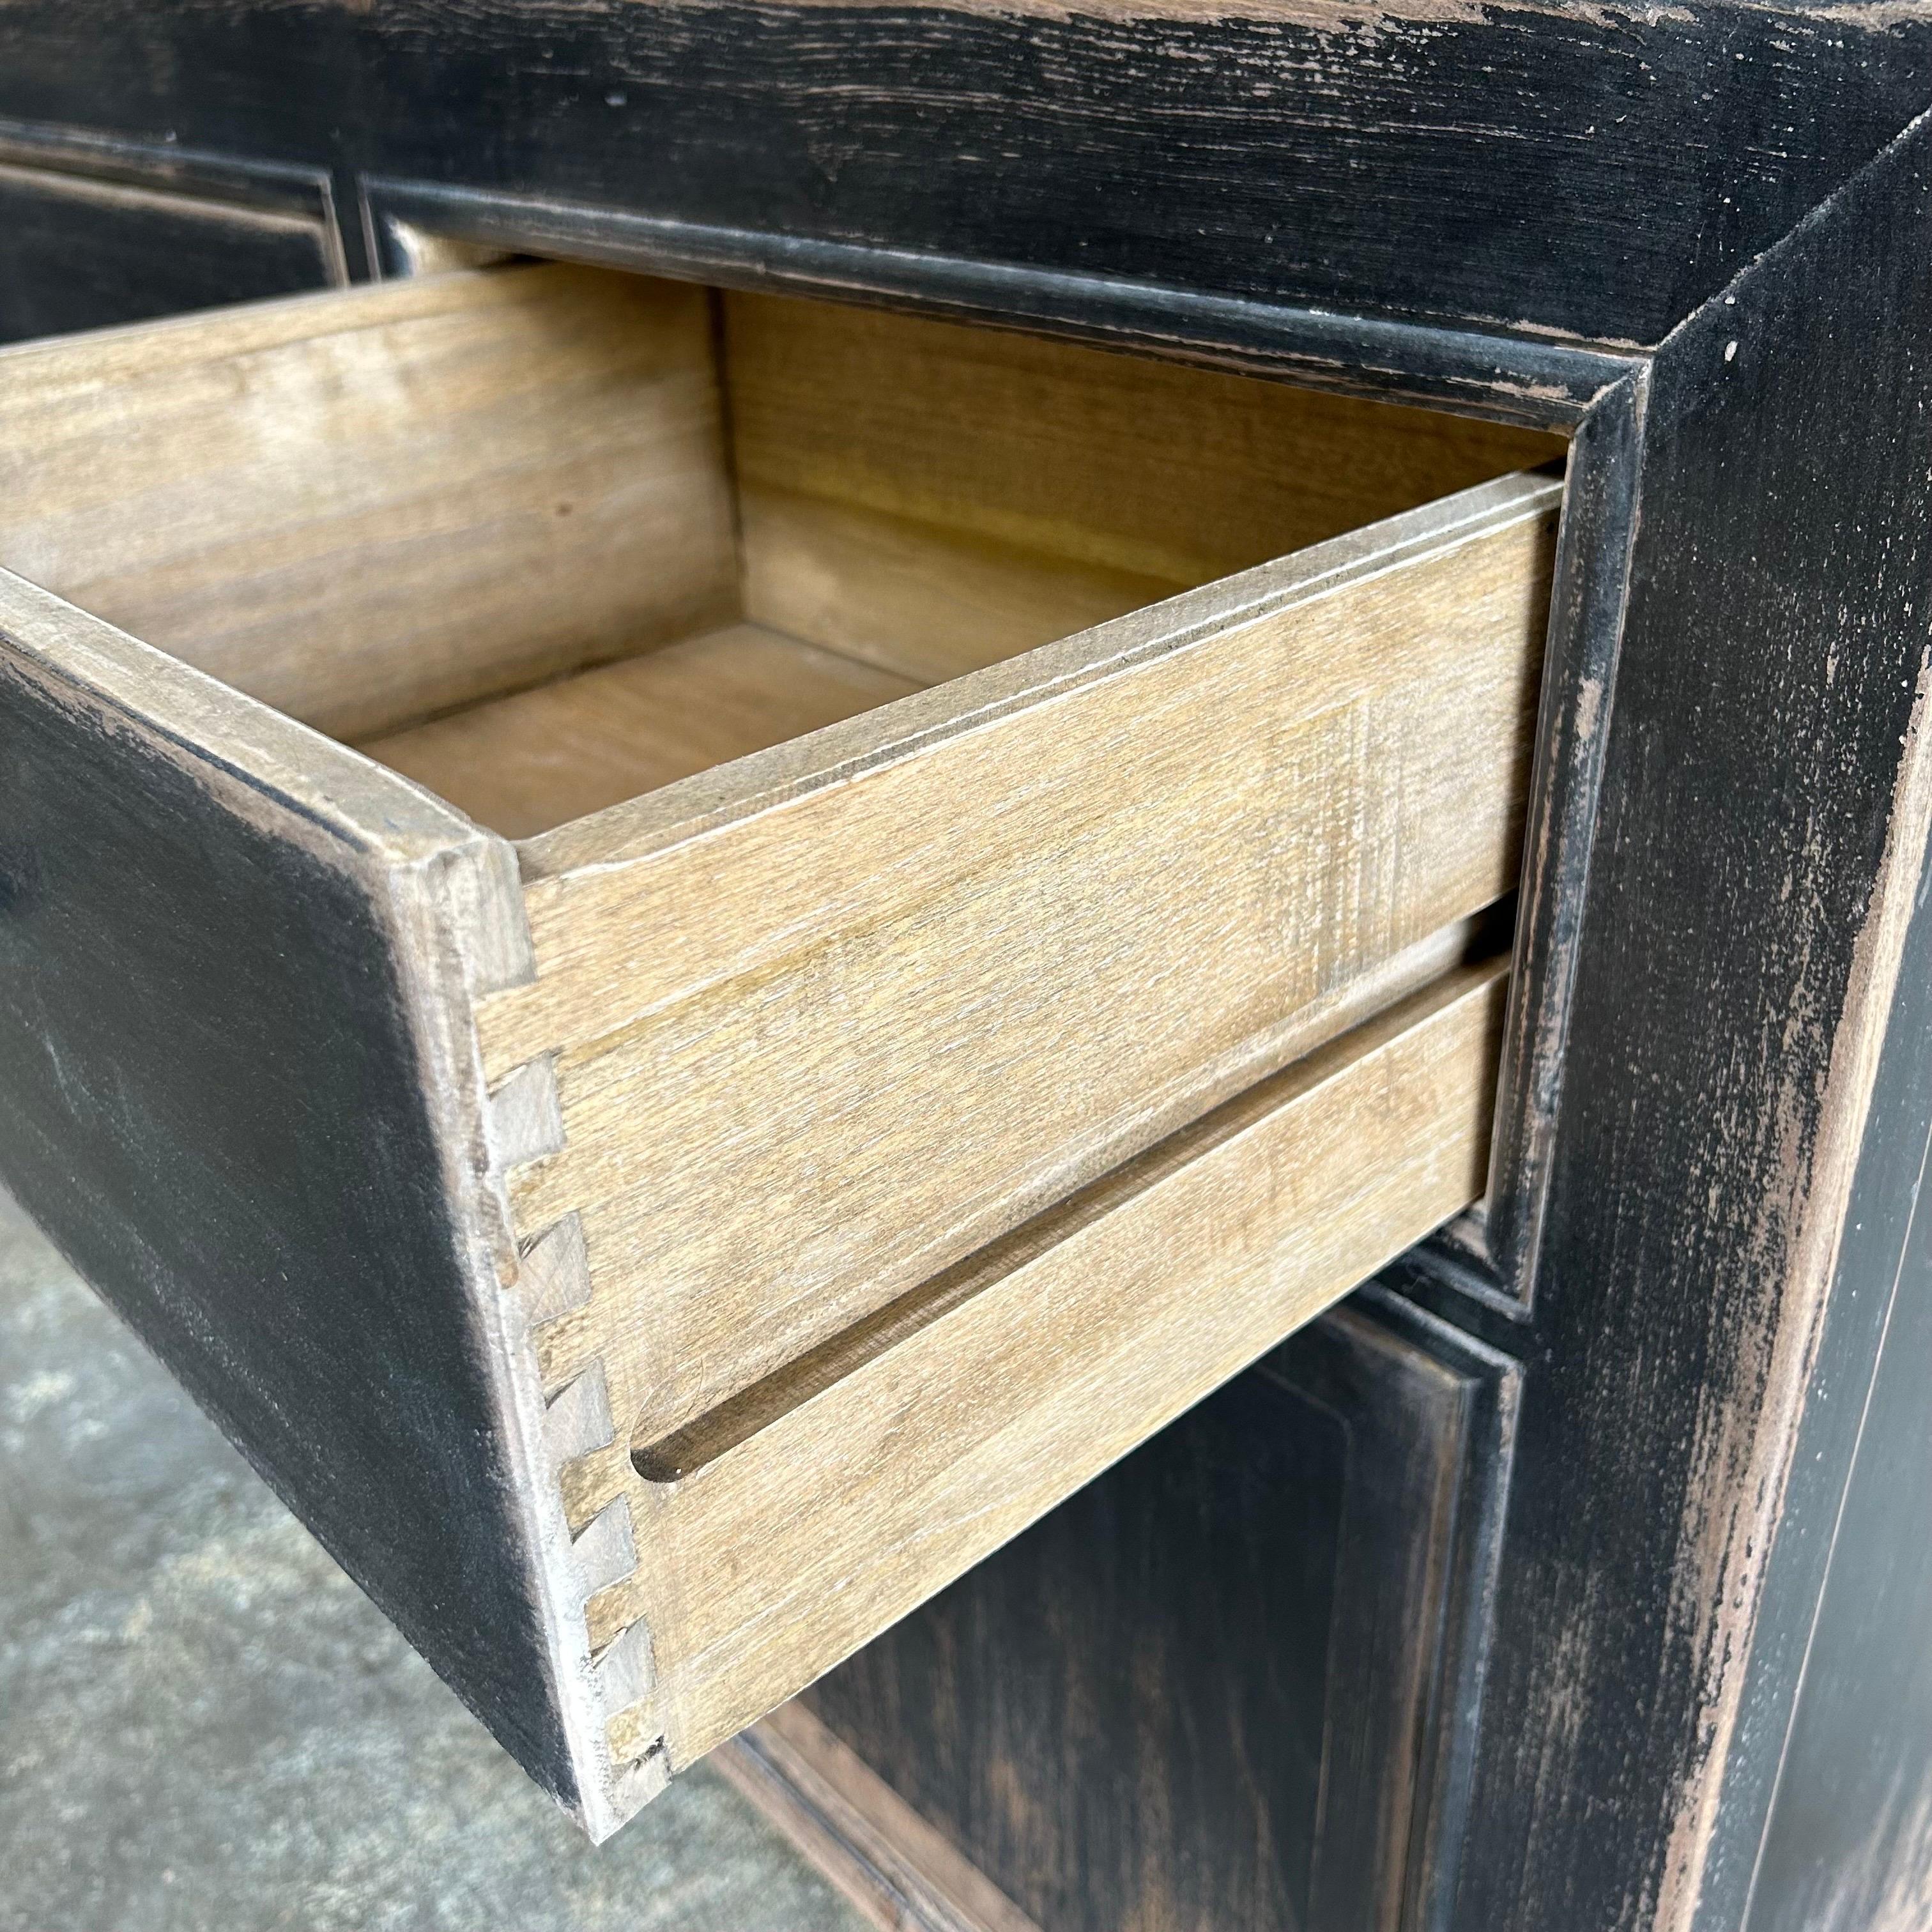
[[570,1801],[367,858],[0,668],[0,877],[8,1188]]

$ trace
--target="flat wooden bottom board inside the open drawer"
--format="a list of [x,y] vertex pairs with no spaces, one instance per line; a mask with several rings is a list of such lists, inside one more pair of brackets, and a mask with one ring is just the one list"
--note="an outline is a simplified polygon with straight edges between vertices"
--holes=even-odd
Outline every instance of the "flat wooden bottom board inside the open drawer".
[[873,665],[732,624],[363,750],[479,825],[527,838],[912,690]]

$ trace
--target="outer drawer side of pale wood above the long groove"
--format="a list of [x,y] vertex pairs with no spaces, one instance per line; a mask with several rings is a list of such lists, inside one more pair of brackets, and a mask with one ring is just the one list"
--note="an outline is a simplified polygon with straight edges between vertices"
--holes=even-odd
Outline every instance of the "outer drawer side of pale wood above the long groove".
[[[1360,1016],[1507,893],[1557,485],[1517,479],[526,848],[601,1358],[670,1430]],[[1383,987],[1381,997],[1387,997]]]

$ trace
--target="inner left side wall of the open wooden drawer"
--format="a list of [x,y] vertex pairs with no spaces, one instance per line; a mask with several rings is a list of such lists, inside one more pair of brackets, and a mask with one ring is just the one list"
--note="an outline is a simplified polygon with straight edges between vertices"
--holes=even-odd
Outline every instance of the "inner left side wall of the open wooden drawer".
[[0,562],[344,736],[736,614],[701,290],[543,267],[0,352]]

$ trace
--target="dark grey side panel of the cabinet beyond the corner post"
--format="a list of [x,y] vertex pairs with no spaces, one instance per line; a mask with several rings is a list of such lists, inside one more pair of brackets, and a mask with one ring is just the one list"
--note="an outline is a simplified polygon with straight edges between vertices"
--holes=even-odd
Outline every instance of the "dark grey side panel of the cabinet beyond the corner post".
[[[1932,1447],[1932,1406],[1924,1399],[1932,1374],[1932,1337],[1924,1325],[1932,1306],[1926,1275],[1932,1217],[1920,1206],[1928,1132],[1932,869],[1918,881],[1905,970],[1893,989],[1884,1065],[1859,1157],[1851,1225],[1793,1443],[1783,1495],[1789,1532],[1779,1534],[1772,1549],[1766,1604],[1752,1633],[1750,1677],[1737,1748],[1725,1766],[1700,1926],[1735,1926],[1752,1901],[1752,1924],[1785,1928],[1799,1922],[1795,1915],[1810,1901],[1806,1886],[1789,1878],[1793,1862],[1810,1866],[1806,1884],[1851,1905],[1874,1876],[1880,1891],[1886,1889],[1893,1866],[1907,1874],[1907,1897],[1915,1882],[1911,1861],[1920,1847],[1909,1830],[1909,1806],[1888,1806],[1884,1797],[1874,1797],[1872,1785],[1895,1779],[1909,1793],[1932,1774],[1926,1685],[1918,1683],[1915,1692],[1913,1669],[1915,1650],[1932,1656],[1932,1588],[1917,1569],[1932,1551],[1932,1536],[1924,1534],[1932,1486],[1915,1472],[1915,1463]],[[1884,1372],[1874,1383],[1880,1350]],[[1876,1432],[1866,1432],[1868,1403]],[[1866,1434],[1874,1439],[1861,1443]],[[1847,1486],[1857,1497],[1847,1519],[1862,1517],[1862,1522],[1841,1565],[1833,1544],[1847,1520],[1841,1519]],[[1828,1565],[1835,1578],[1835,1609],[1820,1625]],[[1876,1642],[1868,1646],[1868,1638]],[[1847,1694],[1847,1683],[1874,1681],[1895,1687],[1893,1700],[1876,1718],[1870,1702],[1859,1710],[1859,1700]],[[1801,1729],[1814,1735],[1808,1762],[1801,1770],[1793,1760],[1787,1772],[1801,1690]],[[1835,1750],[1820,1750],[1820,1741]],[[1808,1783],[1808,1795],[1785,1797],[1793,1777]],[[1835,1795],[1820,1804],[1826,1787]],[[1772,1814],[1774,1795],[1781,1822]],[[1895,1859],[1872,1857],[1872,1851],[1847,1857],[1862,1833],[1870,1833],[1870,1847]],[[1777,1841],[1772,1859],[1766,1859],[1768,1839]],[[1820,1855],[1820,1839],[1832,1857]],[[1843,1868],[1853,1862],[1862,1870],[1839,1891],[1839,1878],[1849,1876]],[[1824,1915],[1814,1922],[1822,1926]],[[1841,1922],[1835,1932],[1849,1932],[1849,1924]]]

